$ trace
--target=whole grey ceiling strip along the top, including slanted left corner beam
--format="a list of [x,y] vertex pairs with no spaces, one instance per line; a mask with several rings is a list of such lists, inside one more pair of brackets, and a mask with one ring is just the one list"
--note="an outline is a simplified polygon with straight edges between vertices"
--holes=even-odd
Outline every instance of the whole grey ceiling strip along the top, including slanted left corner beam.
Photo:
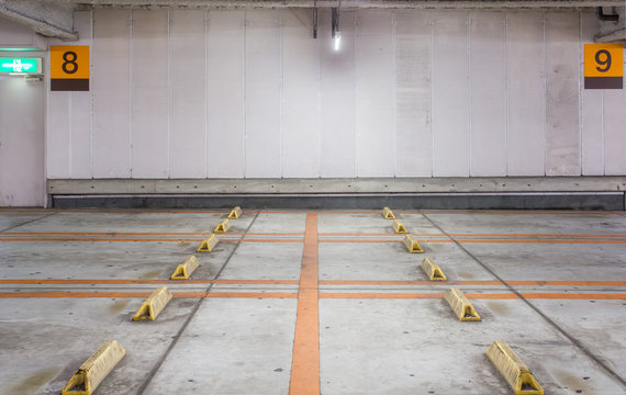
[[342,9],[519,9],[519,8],[583,8],[624,7],[624,0],[0,0],[0,16],[31,26],[45,36],[66,41],[78,40],[74,31],[72,12],[91,8],[331,8]]

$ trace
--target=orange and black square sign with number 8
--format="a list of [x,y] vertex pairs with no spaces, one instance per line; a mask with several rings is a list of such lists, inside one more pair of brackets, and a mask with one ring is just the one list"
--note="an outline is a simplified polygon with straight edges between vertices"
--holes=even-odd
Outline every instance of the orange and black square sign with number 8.
[[89,90],[89,46],[51,45],[51,90]]

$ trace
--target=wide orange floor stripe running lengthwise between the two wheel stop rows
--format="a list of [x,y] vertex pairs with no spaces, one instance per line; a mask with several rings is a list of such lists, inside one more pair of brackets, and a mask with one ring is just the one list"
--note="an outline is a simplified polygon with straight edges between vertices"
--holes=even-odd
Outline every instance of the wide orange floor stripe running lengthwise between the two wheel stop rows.
[[306,214],[290,395],[320,395],[317,214]]

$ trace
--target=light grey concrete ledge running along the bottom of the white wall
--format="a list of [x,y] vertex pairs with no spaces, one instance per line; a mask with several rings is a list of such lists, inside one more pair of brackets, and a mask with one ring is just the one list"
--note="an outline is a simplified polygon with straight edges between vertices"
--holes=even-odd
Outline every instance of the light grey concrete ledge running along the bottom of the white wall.
[[336,179],[49,179],[49,194],[395,194],[626,191],[626,177],[429,177]]

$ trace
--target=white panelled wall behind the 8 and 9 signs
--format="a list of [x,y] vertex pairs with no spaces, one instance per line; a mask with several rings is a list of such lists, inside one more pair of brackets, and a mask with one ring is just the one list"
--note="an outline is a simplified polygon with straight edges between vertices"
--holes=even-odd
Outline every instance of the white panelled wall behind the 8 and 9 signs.
[[[47,177],[626,174],[592,11],[97,10],[91,91],[49,92]],[[54,42],[51,44],[55,44]]]

